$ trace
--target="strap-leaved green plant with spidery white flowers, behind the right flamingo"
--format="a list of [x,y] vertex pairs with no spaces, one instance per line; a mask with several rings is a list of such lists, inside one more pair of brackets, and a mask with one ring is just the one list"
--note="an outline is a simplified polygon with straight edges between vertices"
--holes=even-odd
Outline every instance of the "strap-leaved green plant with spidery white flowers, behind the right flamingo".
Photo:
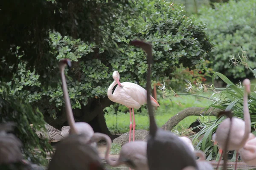
[[[230,62],[233,65],[244,65],[245,68],[249,69],[254,74],[254,76],[256,76],[256,69],[253,70],[247,64],[247,55],[245,51],[242,51],[242,56],[241,57],[239,56],[239,59],[231,57]],[[221,78],[227,84],[226,88],[216,88],[214,86],[213,80],[215,79],[216,76]],[[214,109],[219,108],[221,110],[226,110],[226,111],[231,110],[233,112],[233,116],[243,119],[244,87],[242,87],[241,82],[235,85],[226,76],[217,72],[212,76],[212,85],[205,85],[205,84],[201,84],[200,82],[197,82],[195,85],[192,85],[192,83],[189,81],[187,81],[187,83],[188,83],[186,85],[187,88],[185,90],[189,93],[177,94],[172,90],[172,88],[166,89],[164,85],[160,87],[160,90],[163,91],[163,96],[193,95],[197,97],[204,97],[210,101],[213,101],[213,103],[210,104],[205,109],[205,111],[207,111],[209,108],[214,108]],[[254,91],[254,89],[255,89],[255,84],[252,83],[251,93],[248,100],[252,127],[255,127],[256,125],[256,91]],[[199,95],[195,94],[195,92],[199,92],[199,91],[201,91],[201,93],[204,93],[204,91],[212,91],[213,93],[210,97],[202,96],[200,94]],[[220,154],[218,153],[218,147],[216,145],[213,145],[212,134],[215,133],[215,130],[217,129],[218,125],[224,119],[225,118],[223,116],[217,118],[216,120],[208,119],[207,122],[198,126],[198,127],[203,127],[203,129],[199,133],[196,133],[195,135],[191,136],[193,137],[192,139],[193,144],[197,143],[195,148],[203,150],[207,154],[207,160],[219,159]],[[255,131],[253,133],[256,134]],[[198,138],[200,136],[204,136],[204,137],[198,141]]]

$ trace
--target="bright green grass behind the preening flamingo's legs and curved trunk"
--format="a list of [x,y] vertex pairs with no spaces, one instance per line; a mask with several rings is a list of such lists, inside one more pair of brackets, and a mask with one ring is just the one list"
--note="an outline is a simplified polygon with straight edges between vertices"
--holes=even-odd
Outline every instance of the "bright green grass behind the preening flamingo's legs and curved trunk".
[[[210,93],[204,94],[204,96],[210,96]],[[171,99],[158,99],[160,107],[155,111],[157,125],[161,127],[164,125],[172,116],[189,107],[207,107],[212,102],[207,99],[195,97],[195,96],[180,96],[172,97]],[[126,133],[129,132],[130,114],[129,109],[125,106],[119,105],[119,110],[115,114],[114,107],[105,108],[105,119],[108,129],[111,133]],[[126,113],[125,113],[126,112]],[[202,116],[189,116],[183,119],[173,130],[184,130],[195,122],[200,117],[200,121],[203,122]],[[204,122],[206,122],[208,116],[205,116]],[[215,116],[210,116],[210,119],[216,119]],[[141,109],[141,113],[135,109],[135,121],[136,129],[148,130],[148,112],[145,107]]]

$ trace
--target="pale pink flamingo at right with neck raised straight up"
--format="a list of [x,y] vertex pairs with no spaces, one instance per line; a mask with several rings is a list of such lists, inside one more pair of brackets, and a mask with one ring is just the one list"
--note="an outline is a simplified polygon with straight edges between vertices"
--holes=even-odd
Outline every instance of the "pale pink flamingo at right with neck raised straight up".
[[[230,138],[229,138],[229,145],[227,150],[236,150],[236,165],[238,160],[238,153],[239,150],[244,146],[245,142],[247,141],[251,126],[250,126],[250,113],[248,108],[248,94],[250,94],[250,80],[244,79],[243,81],[244,85],[244,121],[242,119],[239,119],[237,117],[232,118],[232,127],[230,127],[230,119],[225,119],[221,124],[218,126],[216,133],[212,135],[212,139],[214,141],[214,144],[218,142],[221,152],[221,157],[223,155],[222,148],[225,146],[225,142],[227,139],[228,131],[231,128],[230,132]],[[221,159],[218,161],[218,166]],[[236,166],[235,166],[236,170]]]

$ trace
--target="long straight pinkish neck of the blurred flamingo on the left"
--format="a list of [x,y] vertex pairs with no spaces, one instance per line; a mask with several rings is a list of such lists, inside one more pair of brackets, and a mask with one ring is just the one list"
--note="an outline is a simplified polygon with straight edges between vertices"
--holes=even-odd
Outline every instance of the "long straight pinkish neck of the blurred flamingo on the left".
[[67,114],[67,122],[70,125],[70,133],[78,134],[78,131],[75,127],[75,119],[72,112],[72,107],[70,104],[70,98],[67,91],[67,82],[65,77],[65,64],[60,65],[60,71],[61,71],[61,81],[62,81],[62,91],[64,95],[64,101],[65,101],[65,109]]

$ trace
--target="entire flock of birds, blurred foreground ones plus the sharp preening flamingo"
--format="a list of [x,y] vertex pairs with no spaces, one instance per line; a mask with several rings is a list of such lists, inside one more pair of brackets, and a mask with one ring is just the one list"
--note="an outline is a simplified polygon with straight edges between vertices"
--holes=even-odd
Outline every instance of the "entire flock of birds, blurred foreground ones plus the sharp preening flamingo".
[[[146,90],[131,82],[119,82],[118,71],[113,72],[113,83],[108,88],[108,98],[116,103],[125,105],[130,109],[130,133],[129,142],[121,148],[119,159],[109,158],[111,149],[111,139],[102,133],[94,133],[93,128],[85,122],[75,122],[67,90],[67,82],[64,69],[71,66],[69,59],[61,59],[59,68],[61,71],[62,89],[64,94],[65,109],[67,120],[70,126],[62,127],[59,133],[51,126],[46,126],[47,137],[50,142],[60,141],[54,155],[49,163],[48,170],[104,170],[102,160],[96,147],[99,140],[107,142],[105,160],[113,167],[126,164],[134,170],[213,170],[212,165],[206,161],[203,151],[195,150],[192,142],[185,136],[176,136],[170,131],[162,130],[157,127],[154,119],[153,106],[159,106],[157,101],[150,96],[151,91],[151,64],[153,61],[152,48],[147,42],[134,40],[131,45],[142,48],[147,56],[148,73]],[[116,86],[117,84],[117,86]],[[250,113],[248,108],[248,94],[250,94],[250,80],[244,79],[244,120],[230,116],[218,126],[212,139],[214,144],[218,143],[221,157],[229,150],[236,150],[236,165],[240,153],[241,159],[248,165],[256,165],[256,137],[251,132]],[[112,90],[116,86],[113,94]],[[138,109],[141,105],[148,105],[149,115],[149,137],[148,141],[134,141],[135,119],[134,108]],[[133,114],[133,124],[132,116]],[[222,111],[228,116],[230,111]],[[31,125],[33,126],[33,125]],[[13,164],[23,160],[19,139],[13,134],[11,122],[0,124],[0,165]],[[131,142],[131,129],[133,128],[133,142]],[[39,137],[46,136],[36,131]],[[224,154],[225,156],[226,154]],[[199,159],[197,159],[199,157]],[[221,159],[220,159],[221,160]],[[218,166],[220,164],[218,162]],[[226,161],[224,161],[225,167]],[[217,169],[218,169],[217,166]],[[225,169],[225,168],[224,168]],[[236,166],[235,166],[236,170]]]

